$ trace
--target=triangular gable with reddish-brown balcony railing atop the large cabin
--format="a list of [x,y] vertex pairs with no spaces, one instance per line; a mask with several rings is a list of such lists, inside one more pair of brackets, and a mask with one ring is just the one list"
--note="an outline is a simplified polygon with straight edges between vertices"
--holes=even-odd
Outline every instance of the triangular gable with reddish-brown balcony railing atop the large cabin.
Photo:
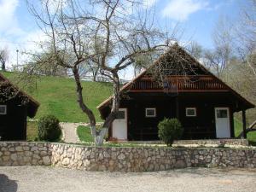
[[[121,92],[227,92],[243,103],[243,108],[254,108],[253,103],[218,79],[177,44],[154,61],[147,70],[125,84]],[[112,96],[97,108],[101,110],[111,100]]]

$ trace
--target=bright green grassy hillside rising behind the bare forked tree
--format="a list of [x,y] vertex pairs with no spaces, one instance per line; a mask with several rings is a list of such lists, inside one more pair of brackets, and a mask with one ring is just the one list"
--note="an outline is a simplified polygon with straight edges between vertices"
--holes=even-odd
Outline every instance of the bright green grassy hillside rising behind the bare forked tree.
[[[5,77],[15,79],[15,73],[3,73]],[[96,115],[96,121],[102,121],[96,106],[111,95],[110,83],[82,82],[84,87],[84,102]],[[42,77],[37,81],[37,89],[27,91],[40,102],[35,119],[45,114],[54,114],[64,122],[88,122],[88,118],[81,112],[76,100],[75,82],[73,79]]]

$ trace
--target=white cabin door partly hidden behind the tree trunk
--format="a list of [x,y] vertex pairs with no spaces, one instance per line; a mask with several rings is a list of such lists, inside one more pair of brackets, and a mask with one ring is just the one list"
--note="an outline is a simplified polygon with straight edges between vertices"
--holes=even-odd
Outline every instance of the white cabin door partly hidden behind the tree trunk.
[[127,140],[127,109],[119,108],[119,113],[112,124],[112,137]]

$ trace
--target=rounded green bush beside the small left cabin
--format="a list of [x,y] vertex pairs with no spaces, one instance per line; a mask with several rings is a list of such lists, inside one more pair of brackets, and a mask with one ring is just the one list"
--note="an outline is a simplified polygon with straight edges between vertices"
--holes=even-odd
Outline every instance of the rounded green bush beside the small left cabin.
[[61,137],[59,119],[53,115],[46,115],[38,122],[38,139],[41,141],[54,142]]

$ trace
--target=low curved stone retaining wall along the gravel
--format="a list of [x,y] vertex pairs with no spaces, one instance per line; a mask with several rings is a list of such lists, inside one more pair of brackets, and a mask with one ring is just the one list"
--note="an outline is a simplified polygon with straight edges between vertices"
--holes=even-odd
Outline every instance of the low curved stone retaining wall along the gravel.
[[54,165],[90,171],[148,172],[197,166],[256,167],[256,149],[95,148],[64,143],[0,143],[0,166]]

